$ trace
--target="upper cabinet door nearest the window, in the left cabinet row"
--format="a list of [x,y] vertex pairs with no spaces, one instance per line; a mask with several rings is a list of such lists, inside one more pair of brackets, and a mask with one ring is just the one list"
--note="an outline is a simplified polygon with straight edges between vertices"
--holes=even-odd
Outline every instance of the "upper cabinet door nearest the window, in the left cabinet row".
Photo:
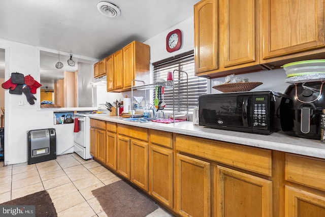
[[123,87],[131,87],[132,80],[134,79],[134,43],[128,44],[123,47]]

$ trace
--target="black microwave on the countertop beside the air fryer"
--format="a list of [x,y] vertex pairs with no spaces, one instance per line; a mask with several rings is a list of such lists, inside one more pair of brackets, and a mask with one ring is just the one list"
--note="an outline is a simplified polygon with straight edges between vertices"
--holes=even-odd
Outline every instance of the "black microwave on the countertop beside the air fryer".
[[221,130],[271,134],[281,129],[282,94],[272,90],[199,97],[199,125]]

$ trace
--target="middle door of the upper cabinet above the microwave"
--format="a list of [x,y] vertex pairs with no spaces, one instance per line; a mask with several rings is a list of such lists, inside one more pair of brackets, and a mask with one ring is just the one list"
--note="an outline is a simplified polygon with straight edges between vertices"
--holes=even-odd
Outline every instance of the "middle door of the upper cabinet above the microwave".
[[220,11],[222,11],[219,23],[220,48],[222,48],[220,65],[224,68],[243,64],[248,66],[248,63],[256,64],[256,57],[258,58],[256,4],[258,1],[255,0],[219,1]]

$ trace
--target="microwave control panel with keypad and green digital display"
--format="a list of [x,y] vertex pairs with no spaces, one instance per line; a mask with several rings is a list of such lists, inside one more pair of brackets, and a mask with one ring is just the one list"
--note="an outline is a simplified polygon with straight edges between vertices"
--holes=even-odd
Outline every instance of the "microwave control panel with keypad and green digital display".
[[268,129],[268,96],[252,96],[252,126],[253,128]]

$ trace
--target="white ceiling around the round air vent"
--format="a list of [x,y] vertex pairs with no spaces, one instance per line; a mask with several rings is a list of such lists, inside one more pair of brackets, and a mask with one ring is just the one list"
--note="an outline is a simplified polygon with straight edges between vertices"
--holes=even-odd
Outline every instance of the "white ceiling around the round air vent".
[[146,41],[193,16],[199,0],[109,0],[121,16],[97,9],[101,0],[0,1],[0,39],[92,58]]

